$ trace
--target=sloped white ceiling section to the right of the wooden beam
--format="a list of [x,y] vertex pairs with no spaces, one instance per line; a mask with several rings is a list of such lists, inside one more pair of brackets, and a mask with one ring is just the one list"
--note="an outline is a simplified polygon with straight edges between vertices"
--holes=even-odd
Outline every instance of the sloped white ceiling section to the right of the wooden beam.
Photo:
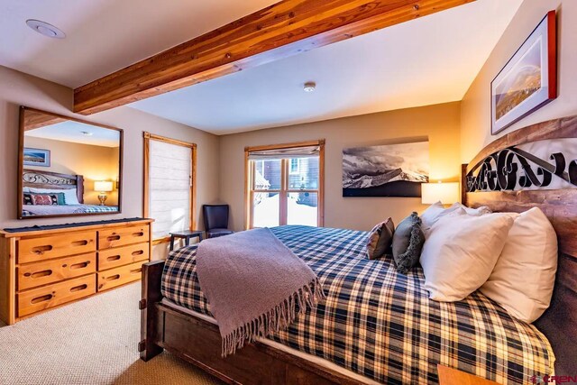
[[132,106],[224,134],[461,100],[521,3],[479,0]]

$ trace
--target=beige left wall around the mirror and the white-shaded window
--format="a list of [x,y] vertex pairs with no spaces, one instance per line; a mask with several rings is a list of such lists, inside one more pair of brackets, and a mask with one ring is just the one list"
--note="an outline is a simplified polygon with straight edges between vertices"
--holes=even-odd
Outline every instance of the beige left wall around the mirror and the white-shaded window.
[[[71,114],[73,92],[41,78],[0,66],[0,228],[25,225],[51,225],[123,217],[142,216],[142,132],[148,131],[187,142],[196,142],[197,220],[204,203],[218,197],[218,137],[183,124],[142,113],[124,106],[96,115]],[[120,215],[78,216],[57,219],[16,220],[16,180],[18,160],[18,109],[27,105],[41,110],[76,116],[124,129],[123,213]],[[200,222],[198,221],[200,224]]]

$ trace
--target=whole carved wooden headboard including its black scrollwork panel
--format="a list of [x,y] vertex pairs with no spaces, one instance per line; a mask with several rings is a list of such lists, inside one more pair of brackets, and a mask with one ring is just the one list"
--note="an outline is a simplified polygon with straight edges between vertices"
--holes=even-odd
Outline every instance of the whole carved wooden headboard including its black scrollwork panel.
[[[563,153],[563,142],[568,153]],[[532,144],[533,143],[533,144]],[[554,152],[539,157],[527,146]],[[554,143],[553,145],[551,143]],[[539,207],[559,241],[551,307],[536,321],[556,356],[557,375],[577,375],[577,116],[531,125],[490,143],[463,165],[462,200],[472,207],[523,212]],[[543,152],[543,151],[541,151]],[[572,152],[572,154],[570,154]],[[562,186],[562,188],[558,188]],[[547,189],[554,188],[554,189]],[[527,285],[531,285],[527,277]]]

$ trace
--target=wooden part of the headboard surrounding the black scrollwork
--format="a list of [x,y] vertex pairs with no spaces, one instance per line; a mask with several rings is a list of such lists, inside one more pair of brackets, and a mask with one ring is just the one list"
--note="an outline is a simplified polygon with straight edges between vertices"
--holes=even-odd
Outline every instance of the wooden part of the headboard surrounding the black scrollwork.
[[[489,206],[493,211],[523,212],[539,207],[554,226],[559,242],[557,277],[551,306],[536,321],[547,337],[557,361],[557,375],[577,375],[577,188],[522,191],[469,192],[467,177],[478,170],[484,160],[503,149],[550,139],[577,138],[577,116],[534,124],[500,137],[485,147],[470,163],[463,165],[462,201],[471,207]],[[551,154],[553,155],[553,154]],[[551,158],[553,160],[553,157]],[[551,161],[549,160],[549,161]],[[577,183],[576,160],[565,160],[556,171]],[[536,169],[536,168],[535,168]],[[556,178],[554,175],[553,178]],[[471,186],[469,186],[471,187]],[[527,277],[527,285],[531,278]]]

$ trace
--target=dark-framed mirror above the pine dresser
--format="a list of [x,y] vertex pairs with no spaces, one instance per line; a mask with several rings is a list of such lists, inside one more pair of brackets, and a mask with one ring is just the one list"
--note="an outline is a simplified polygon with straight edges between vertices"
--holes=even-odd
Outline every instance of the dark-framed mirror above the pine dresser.
[[18,219],[122,212],[123,130],[22,106]]

